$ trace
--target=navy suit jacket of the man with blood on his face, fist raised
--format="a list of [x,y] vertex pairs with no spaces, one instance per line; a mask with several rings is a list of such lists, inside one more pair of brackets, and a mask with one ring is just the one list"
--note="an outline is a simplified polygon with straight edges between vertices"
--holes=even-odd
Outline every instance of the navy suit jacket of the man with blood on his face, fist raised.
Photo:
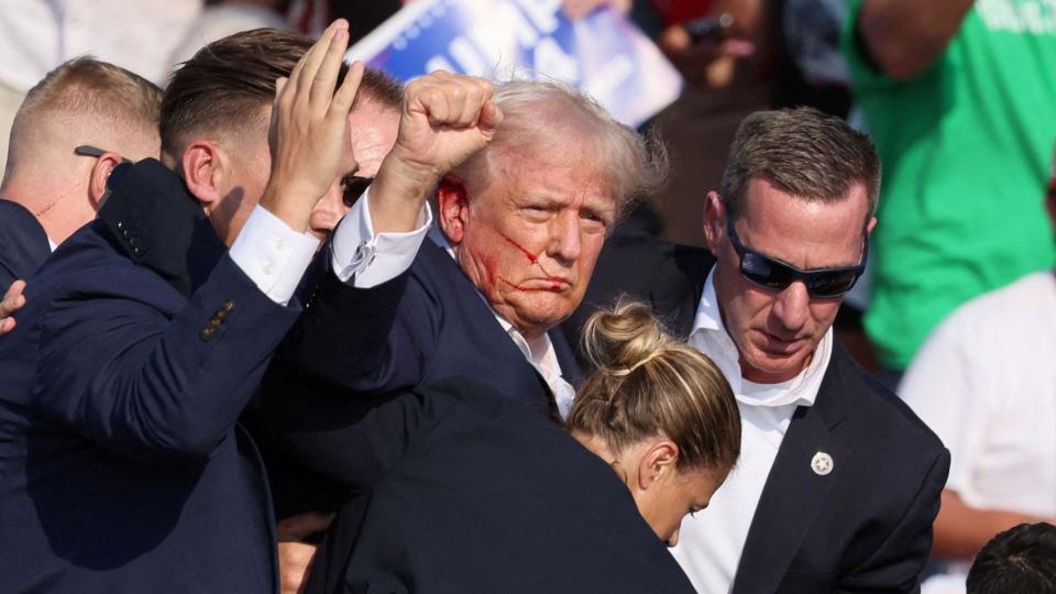
[[[320,267],[328,261],[323,257]],[[344,418],[355,415],[361,400],[428,393],[455,376],[472,377],[540,416],[552,414],[542,377],[458,263],[432,241],[422,243],[406,273],[377,287],[350,287],[330,271],[318,277],[305,315],[262,385],[261,425],[272,429],[261,433],[261,441],[279,517],[334,508],[348,497],[324,477],[305,473],[282,444],[271,443],[284,424]],[[571,349],[557,329],[550,337],[565,380],[578,385],[582,375]],[[280,398],[292,406],[278,414],[272,404]],[[349,409],[342,411],[344,405]]]

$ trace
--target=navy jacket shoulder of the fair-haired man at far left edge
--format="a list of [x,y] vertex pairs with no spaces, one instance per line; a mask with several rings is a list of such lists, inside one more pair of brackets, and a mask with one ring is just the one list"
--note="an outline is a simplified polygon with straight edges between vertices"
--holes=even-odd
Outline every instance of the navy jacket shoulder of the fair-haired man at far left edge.
[[18,202],[0,200],[0,296],[11,283],[33,276],[51,254],[36,217]]

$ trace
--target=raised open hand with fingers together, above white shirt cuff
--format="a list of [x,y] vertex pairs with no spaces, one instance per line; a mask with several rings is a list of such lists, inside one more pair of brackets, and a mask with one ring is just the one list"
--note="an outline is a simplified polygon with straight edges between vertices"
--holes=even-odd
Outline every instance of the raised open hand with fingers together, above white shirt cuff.
[[288,79],[276,81],[270,141],[272,174],[261,206],[297,231],[308,229],[312,207],[334,179],[354,168],[348,150],[348,116],[363,77],[349,68],[334,92],[349,46],[349,23],[334,21],[300,58]]

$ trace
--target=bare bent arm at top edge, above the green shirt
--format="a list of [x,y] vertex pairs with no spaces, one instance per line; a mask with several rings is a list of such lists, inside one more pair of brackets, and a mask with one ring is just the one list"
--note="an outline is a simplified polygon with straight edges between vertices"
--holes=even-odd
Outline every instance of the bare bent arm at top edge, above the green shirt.
[[856,28],[877,67],[895,80],[909,80],[946,51],[974,3],[865,0]]

